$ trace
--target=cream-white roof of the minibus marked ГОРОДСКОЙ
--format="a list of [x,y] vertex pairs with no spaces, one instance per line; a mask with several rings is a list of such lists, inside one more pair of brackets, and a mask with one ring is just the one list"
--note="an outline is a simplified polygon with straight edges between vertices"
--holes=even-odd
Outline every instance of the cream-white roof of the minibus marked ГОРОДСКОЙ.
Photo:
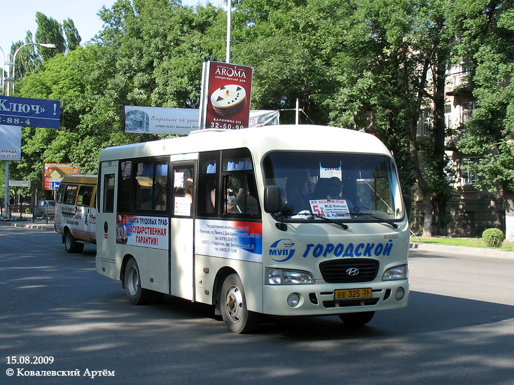
[[107,147],[100,153],[100,161],[239,147],[248,147],[259,158],[271,150],[381,153],[391,156],[387,147],[369,133],[318,125],[277,125],[238,130],[198,130],[187,137]]

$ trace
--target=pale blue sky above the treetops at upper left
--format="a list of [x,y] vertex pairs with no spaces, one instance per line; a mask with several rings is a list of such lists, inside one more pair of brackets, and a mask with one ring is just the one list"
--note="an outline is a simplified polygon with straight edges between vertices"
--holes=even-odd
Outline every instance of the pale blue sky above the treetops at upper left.
[[[27,30],[35,36],[38,25],[35,13],[42,12],[62,24],[68,17],[82,37],[81,44],[91,40],[102,29],[103,23],[97,13],[102,6],[111,8],[115,0],[0,0],[0,47],[7,55],[13,42],[25,41]],[[206,0],[182,0],[183,5],[205,4]],[[219,0],[210,0],[219,5]],[[36,43],[36,42],[34,42]],[[8,61],[6,56],[6,61]],[[0,52],[0,62],[2,53]]]

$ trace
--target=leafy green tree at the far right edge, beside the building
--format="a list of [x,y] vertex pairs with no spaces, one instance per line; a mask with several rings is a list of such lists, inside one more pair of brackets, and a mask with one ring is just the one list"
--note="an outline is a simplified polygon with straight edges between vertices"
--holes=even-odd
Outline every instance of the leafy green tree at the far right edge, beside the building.
[[474,69],[471,79],[478,102],[466,121],[458,148],[481,161],[476,185],[500,193],[505,206],[506,239],[514,241],[514,6],[511,2],[477,2],[468,11],[461,52]]

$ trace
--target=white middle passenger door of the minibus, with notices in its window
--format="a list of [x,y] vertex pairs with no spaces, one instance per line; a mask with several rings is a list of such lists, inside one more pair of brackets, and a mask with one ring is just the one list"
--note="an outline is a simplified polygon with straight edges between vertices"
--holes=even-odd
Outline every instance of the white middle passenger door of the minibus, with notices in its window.
[[172,162],[171,170],[170,294],[193,300],[196,162]]

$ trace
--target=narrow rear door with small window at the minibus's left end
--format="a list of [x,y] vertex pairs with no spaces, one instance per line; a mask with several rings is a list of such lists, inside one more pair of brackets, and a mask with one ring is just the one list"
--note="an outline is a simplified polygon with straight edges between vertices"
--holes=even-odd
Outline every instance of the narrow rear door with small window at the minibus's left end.
[[[116,244],[116,200],[115,194],[116,178],[118,175],[118,161],[102,162],[98,175],[97,188],[97,254],[101,256],[103,266],[112,271],[105,271],[102,274],[116,276],[116,256],[112,253],[113,244]],[[99,239],[101,239],[101,242]],[[97,262],[98,264],[98,262]],[[109,274],[111,273],[111,274]]]

